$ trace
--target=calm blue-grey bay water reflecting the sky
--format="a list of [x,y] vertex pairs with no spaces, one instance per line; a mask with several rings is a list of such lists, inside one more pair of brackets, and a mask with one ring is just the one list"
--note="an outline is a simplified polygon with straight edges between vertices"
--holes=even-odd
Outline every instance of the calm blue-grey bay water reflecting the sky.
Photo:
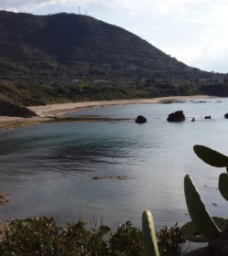
[[[182,185],[186,174],[193,177],[210,213],[226,216],[228,204],[217,190],[218,176],[225,170],[204,164],[192,150],[194,144],[204,144],[228,155],[228,120],[223,118],[228,99],[206,101],[76,113],[129,118],[143,114],[148,118],[143,125],[130,120],[1,130],[0,192],[8,193],[11,202],[0,208],[0,219],[47,215],[64,224],[95,216],[111,226],[128,219],[140,226],[141,213],[149,208],[157,229],[176,221],[181,225],[189,220]],[[166,122],[168,114],[178,110],[196,122]],[[203,120],[205,115],[212,120]]]

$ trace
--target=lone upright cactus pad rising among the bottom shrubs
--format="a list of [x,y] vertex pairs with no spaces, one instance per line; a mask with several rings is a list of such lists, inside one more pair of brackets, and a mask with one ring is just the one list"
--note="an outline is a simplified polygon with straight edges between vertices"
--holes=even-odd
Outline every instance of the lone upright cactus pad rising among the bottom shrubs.
[[159,256],[159,248],[155,235],[153,218],[150,210],[142,213],[142,235],[147,256]]

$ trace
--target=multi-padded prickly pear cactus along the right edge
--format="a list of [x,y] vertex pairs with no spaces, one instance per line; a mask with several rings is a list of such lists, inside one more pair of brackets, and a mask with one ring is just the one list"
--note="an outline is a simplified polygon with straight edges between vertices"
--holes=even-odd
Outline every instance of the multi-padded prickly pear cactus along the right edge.
[[[203,145],[195,145],[193,150],[206,164],[215,167],[226,167],[228,172],[228,157],[226,155]],[[228,174],[223,173],[219,176],[218,187],[222,196],[228,201]],[[191,176],[185,176],[184,178],[184,192],[192,222],[186,223],[181,228],[183,235],[187,240],[209,241],[207,247],[199,251],[192,251],[188,255],[228,255],[227,219],[209,215]]]

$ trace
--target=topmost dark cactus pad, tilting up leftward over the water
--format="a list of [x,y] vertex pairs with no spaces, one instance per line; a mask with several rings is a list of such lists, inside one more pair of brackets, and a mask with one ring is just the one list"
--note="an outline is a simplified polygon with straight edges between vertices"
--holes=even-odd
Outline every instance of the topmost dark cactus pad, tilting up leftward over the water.
[[208,165],[214,167],[225,167],[228,166],[228,157],[209,147],[204,145],[196,144],[193,146],[195,154],[202,159]]

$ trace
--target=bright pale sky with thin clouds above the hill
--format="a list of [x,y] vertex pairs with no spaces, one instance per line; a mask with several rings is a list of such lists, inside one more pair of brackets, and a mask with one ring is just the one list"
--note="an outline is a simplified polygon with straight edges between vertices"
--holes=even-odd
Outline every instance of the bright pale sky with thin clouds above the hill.
[[191,67],[228,73],[228,0],[0,0],[1,10],[35,15],[78,7]]

